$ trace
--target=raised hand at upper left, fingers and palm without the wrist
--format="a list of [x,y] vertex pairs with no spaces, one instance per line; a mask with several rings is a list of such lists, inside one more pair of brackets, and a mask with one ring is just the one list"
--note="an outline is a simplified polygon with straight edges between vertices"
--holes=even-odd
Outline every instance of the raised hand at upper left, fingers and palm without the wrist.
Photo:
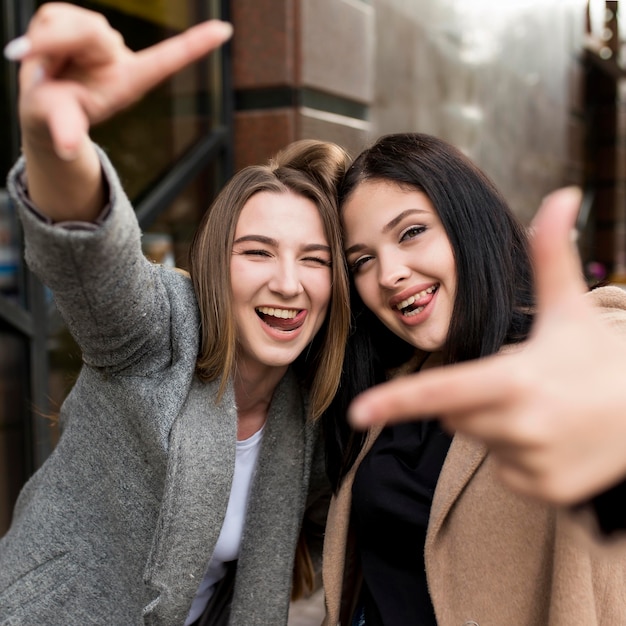
[[25,141],[74,158],[90,126],[139,100],[231,33],[229,24],[211,20],[133,52],[102,15],[62,2],[44,4],[26,34],[5,48],[7,58],[22,62]]

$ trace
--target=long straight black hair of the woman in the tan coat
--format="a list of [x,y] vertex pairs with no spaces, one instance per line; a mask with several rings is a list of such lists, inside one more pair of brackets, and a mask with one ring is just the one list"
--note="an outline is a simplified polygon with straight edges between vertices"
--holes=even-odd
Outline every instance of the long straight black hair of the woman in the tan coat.
[[[457,286],[444,364],[494,354],[528,336],[534,298],[526,231],[483,172],[436,137],[400,133],[381,137],[355,159],[339,186],[340,210],[366,180],[426,194],[448,235]],[[346,421],[348,404],[415,352],[367,310],[354,285],[351,307],[339,393],[323,416],[327,466],[335,488],[363,439]]]

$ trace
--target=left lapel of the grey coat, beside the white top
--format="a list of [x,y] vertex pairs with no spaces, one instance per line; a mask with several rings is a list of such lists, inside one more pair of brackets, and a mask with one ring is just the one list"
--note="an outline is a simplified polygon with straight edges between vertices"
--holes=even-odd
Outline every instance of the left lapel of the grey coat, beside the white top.
[[232,386],[215,403],[217,383],[194,379],[169,440],[157,534],[144,572],[158,592],[150,624],[183,623],[217,542],[235,467],[237,409]]

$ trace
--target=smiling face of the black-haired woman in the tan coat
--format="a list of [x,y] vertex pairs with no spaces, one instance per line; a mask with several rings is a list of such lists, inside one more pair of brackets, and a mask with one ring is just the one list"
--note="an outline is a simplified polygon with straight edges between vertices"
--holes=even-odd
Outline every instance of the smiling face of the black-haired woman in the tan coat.
[[364,304],[426,352],[441,350],[456,294],[456,264],[428,197],[397,184],[357,185],[342,207],[345,249]]

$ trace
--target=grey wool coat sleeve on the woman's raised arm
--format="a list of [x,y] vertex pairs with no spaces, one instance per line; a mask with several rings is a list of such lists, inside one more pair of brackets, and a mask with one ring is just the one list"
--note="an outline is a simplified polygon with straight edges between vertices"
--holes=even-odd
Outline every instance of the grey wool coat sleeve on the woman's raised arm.
[[28,266],[51,290],[83,361],[109,373],[167,366],[169,300],[161,272],[141,251],[135,212],[99,150],[110,206],[96,225],[50,224],[28,205],[24,161],[9,174]]

